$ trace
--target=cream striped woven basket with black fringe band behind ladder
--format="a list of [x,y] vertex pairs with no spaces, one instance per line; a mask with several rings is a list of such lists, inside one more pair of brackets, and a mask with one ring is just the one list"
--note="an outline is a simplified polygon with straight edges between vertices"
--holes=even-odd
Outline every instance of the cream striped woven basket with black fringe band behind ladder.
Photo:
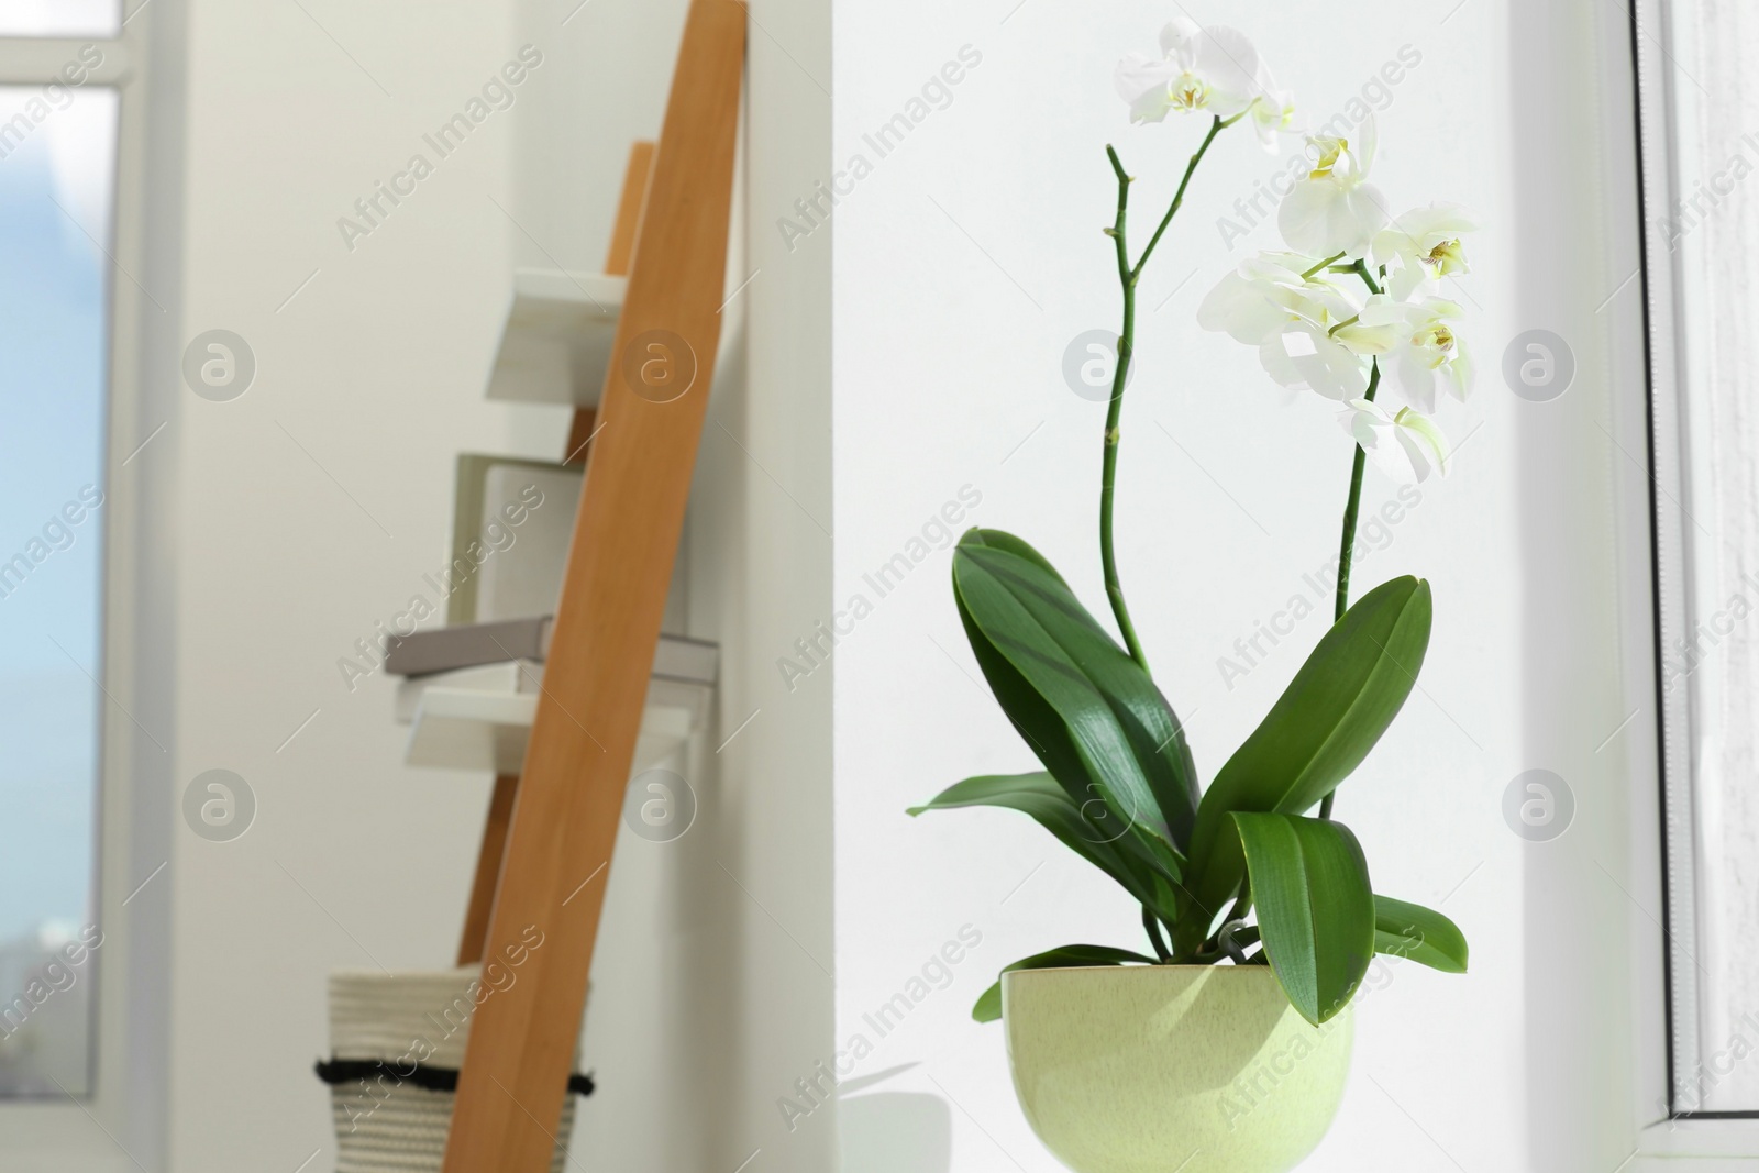
[[[331,1060],[318,1076],[331,1085],[336,1173],[440,1173],[477,978],[475,965],[331,974]],[[591,1080],[573,1076],[570,1090],[586,1094]],[[563,1173],[572,1133],[568,1096],[551,1173]]]

